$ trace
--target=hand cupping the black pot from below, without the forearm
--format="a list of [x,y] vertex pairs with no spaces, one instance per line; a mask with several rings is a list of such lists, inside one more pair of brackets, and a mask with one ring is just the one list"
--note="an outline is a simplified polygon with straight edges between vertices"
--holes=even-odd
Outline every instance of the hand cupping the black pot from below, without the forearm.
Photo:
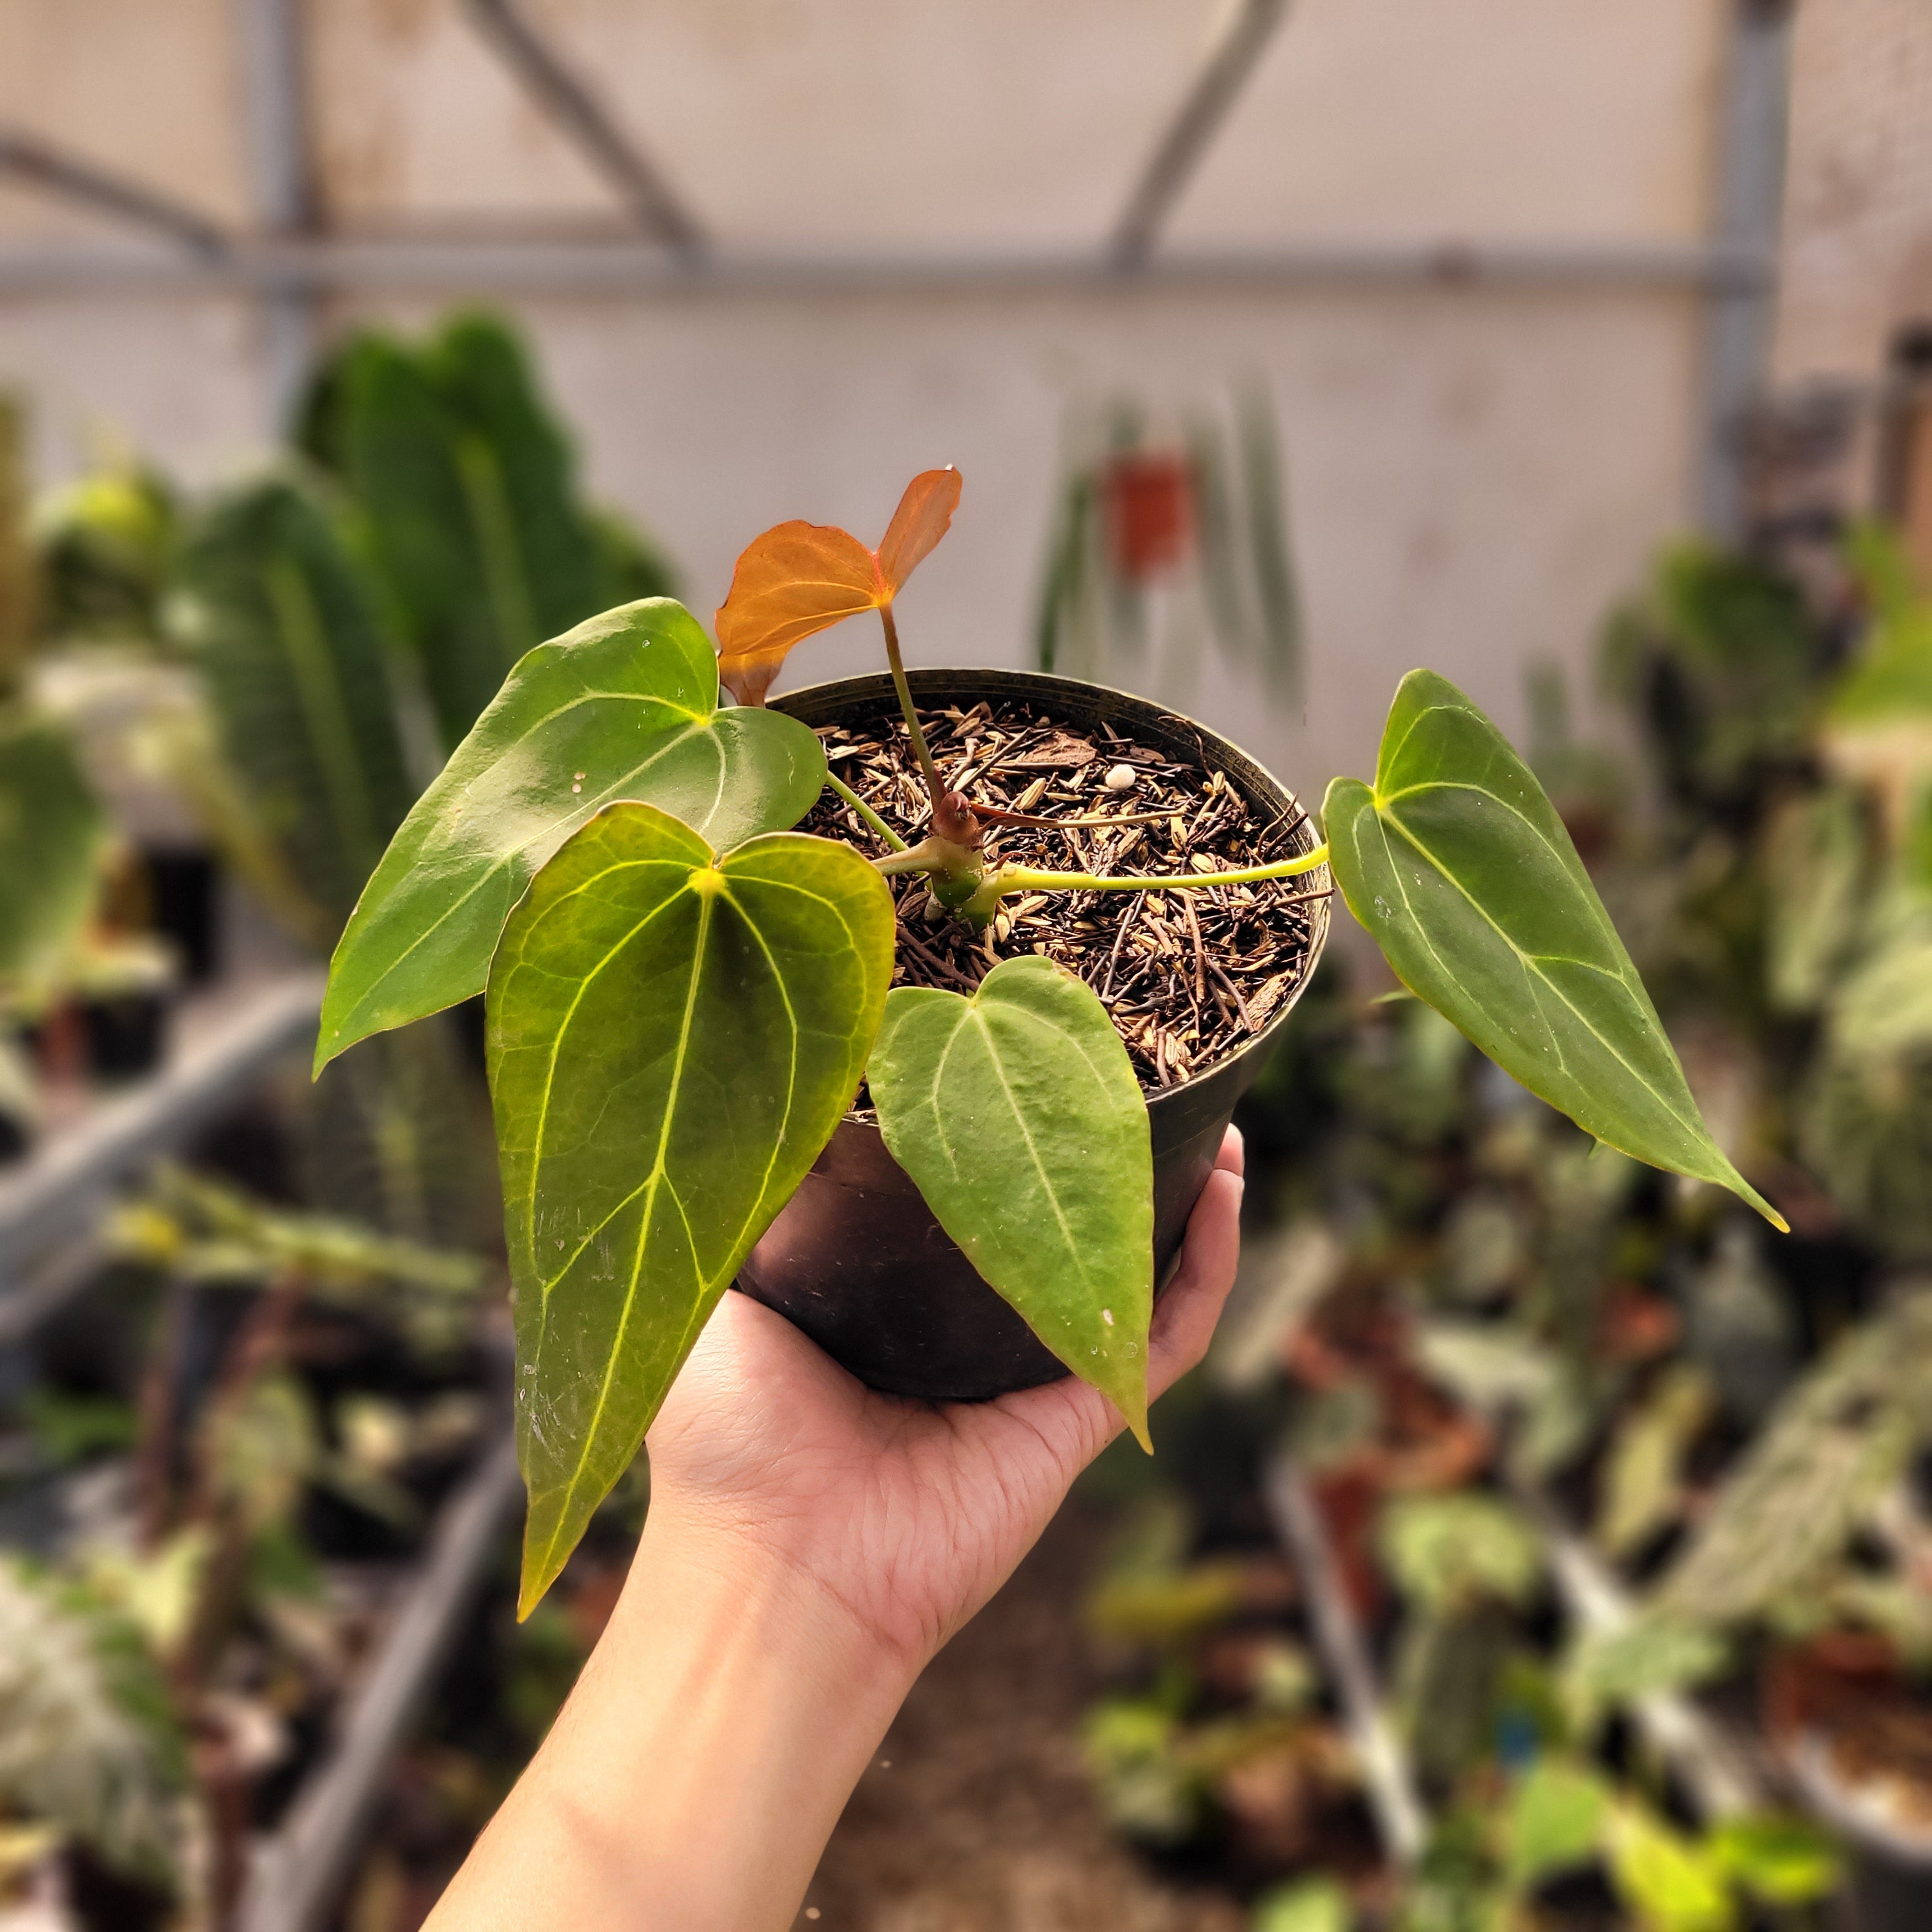
[[[1208,1349],[1235,1279],[1240,1177],[1229,1128],[1153,1314],[1150,1399]],[[653,1530],[786,1565],[910,1681],[1121,1428],[1074,1378],[991,1403],[877,1395],[782,1316],[726,1294],[647,1437]]]

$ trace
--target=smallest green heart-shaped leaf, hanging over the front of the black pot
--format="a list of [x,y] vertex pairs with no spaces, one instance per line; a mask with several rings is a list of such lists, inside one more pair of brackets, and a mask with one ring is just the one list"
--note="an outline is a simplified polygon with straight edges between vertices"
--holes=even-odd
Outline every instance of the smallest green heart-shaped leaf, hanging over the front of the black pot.
[[866,1080],[939,1225],[1148,1447],[1153,1148],[1107,1009],[1034,954],[972,999],[900,987]]

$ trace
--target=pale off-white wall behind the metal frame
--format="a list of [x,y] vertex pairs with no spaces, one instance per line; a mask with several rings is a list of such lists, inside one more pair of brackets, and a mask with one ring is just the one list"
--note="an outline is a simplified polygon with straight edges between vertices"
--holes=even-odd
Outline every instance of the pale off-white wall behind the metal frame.
[[[1202,0],[527,0],[726,247],[1094,247],[1219,8]],[[1175,240],[1692,242],[1721,0],[1302,0]],[[168,33],[158,31],[160,15]],[[605,224],[611,205],[454,0],[313,0],[317,143],[357,230]],[[226,0],[8,0],[0,118],[245,205]],[[0,245],[87,234],[0,193]],[[479,296],[489,294],[477,290]],[[1291,466],[1312,678],[1300,721],[1202,709],[1293,782],[1372,757],[1434,663],[1505,721],[1526,659],[1582,663],[1687,516],[1696,303],[1667,292],[1167,290],[518,303],[595,487],[709,612],[782,516],[877,535],[956,462],[956,533],[906,601],[927,663],[1028,655],[1066,404],[1265,377]],[[369,305],[423,321],[425,303]],[[338,309],[334,321],[348,319]],[[4,298],[0,381],[48,473],[110,425],[207,479],[263,439],[255,319],[226,298]],[[815,668],[869,663],[856,628]]]

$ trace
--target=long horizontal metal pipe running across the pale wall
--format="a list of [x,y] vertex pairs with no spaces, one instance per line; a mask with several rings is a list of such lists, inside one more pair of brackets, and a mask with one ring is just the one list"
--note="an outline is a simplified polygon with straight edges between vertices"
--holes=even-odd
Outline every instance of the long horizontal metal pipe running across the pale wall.
[[1310,243],[1169,251],[1122,274],[1090,255],[709,257],[667,263],[628,242],[296,240],[238,243],[222,259],[133,249],[0,249],[0,296],[166,290],[359,290],[767,296],[1126,296],[1163,290],[1548,290],[1725,294],[1762,290],[1760,251],[1675,245]]

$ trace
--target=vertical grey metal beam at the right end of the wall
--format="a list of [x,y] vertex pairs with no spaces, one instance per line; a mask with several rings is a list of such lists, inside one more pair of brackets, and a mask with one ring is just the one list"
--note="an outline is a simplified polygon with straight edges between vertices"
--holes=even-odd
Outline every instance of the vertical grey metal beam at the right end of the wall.
[[[1718,174],[1716,245],[1776,263],[1785,199],[1791,0],[1733,0]],[[1704,325],[1704,435],[1698,520],[1735,541],[1745,529],[1752,408],[1764,388],[1776,276],[1714,294]]]

